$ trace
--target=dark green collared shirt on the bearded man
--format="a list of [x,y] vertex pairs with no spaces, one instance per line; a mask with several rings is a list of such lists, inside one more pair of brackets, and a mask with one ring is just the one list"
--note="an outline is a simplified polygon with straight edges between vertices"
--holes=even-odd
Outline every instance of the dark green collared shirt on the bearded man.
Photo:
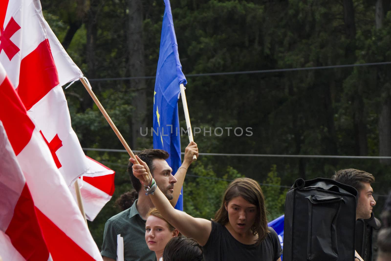
[[117,259],[117,235],[124,238],[125,261],[155,261],[155,252],[145,243],[145,220],[138,213],[136,203],[115,216],[104,225],[103,244],[100,254]]

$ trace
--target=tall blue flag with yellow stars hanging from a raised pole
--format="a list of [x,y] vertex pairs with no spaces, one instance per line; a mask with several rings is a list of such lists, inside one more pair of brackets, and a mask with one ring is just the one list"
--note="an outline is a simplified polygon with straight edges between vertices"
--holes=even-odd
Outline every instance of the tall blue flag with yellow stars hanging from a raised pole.
[[[181,166],[181,130],[178,118],[179,84],[187,81],[179,61],[178,43],[172,22],[170,1],[166,5],[161,27],[160,51],[153,97],[153,148],[170,154],[167,163],[176,173]],[[176,209],[183,210],[182,191]]]

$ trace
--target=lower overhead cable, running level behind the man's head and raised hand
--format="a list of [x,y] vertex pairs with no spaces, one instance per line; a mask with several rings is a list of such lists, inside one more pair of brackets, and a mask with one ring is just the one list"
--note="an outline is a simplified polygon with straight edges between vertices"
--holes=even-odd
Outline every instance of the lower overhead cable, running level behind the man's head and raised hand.
[[[126,152],[125,149],[96,149],[83,148],[84,151]],[[134,150],[133,152],[140,152]],[[185,153],[182,152],[182,155]],[[235,154],[235,153],[198,153],[203,156],[228,156],[228,157],[273,157],[273,158],[357,158],[357,159],[382,159],[386,156],[340,156],[340,155],[286,155],[286,154]]]

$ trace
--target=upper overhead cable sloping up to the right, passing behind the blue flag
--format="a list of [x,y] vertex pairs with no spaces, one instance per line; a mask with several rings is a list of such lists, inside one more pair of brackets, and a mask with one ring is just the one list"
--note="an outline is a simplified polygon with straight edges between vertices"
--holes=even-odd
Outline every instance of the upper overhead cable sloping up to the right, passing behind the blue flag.
[[[293,71],[304,71],[304,70],[322,70],[322,69],[333,69],[333,68],[389,65],[389,64],[391,64],[391,61],[378,62],[378,63],[354,63],[354,64],[345,64],[345,65],[328,65],[328,66],[239,71],[239,72],[212,72],[212,73],[204,73],[204,74],[185,74],[185,76],[195,77],[195,76],[219,76],[219,75],[235,75],[235,74],[260,74],[260,73],[271,73],[271,72],[293,72]],[[135,77],[116,77],[116,78],[95,78],[95,79],[88,79],[88,80],[89,81],[119,81],[119,80],[133,80],[133,79],[155,79],[155,78],[156,76],[135,76]]]

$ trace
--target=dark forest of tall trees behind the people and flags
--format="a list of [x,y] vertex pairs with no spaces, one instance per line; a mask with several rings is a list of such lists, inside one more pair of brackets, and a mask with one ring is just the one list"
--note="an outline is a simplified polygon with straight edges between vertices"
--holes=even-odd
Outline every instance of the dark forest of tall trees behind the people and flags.
[[[152,127],[163,0],[41,4],[129,146],[152,148],[151,135],[143,137],[140,128]],[[391,63],[338,67],[391,61],[390,0],[171,0],[171,8],[201,153],[391,156]],[[248,72],[325,66],[332,68]],[[242,73],[204,75],[224,72]],[[81,83],[65,95],[86,155],[116,171],[112,200],[88,223],[101,247],[104,223],[119,212],[113,202],[132,188],[129,156],[91,150],[123,147]],[[239,127],[252,135],[235,135]],[[185,134],[182,151],[187,144]],[[387,158],[201,155],[185,180],[184,209],[211,218],[230,180],[248,176],[262,184],[270,221],[283,214],[297,178],[330,178],[353,167],[375,176],[378,215],[391,189],[390,164]]]

